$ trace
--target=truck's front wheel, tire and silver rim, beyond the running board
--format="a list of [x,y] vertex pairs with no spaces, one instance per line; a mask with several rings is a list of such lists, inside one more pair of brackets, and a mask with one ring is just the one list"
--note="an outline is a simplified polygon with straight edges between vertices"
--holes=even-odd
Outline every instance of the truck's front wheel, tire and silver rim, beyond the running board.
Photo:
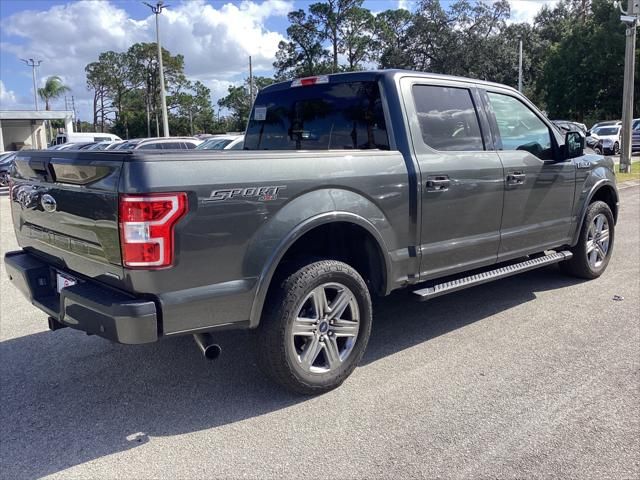
[[615,225],[613,213],[605,202],[593,202],[580,230],[580,237],[571,249],[571,260],[560,263],[563,272],[575,277],[593,279],[602,275],[613,252]]

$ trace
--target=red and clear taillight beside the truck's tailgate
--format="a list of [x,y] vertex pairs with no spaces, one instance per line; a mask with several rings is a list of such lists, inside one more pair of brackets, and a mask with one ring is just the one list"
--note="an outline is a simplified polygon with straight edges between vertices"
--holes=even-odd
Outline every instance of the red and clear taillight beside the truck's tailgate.
[[130,268],[162,268],[173,264],[174,233],[188,210],[187,194],[152,193],[120,196],[122,263]]

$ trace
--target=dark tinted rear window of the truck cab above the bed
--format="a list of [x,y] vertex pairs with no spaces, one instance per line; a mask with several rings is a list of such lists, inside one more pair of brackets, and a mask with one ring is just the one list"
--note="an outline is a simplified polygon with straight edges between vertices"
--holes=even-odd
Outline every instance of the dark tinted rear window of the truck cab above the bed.
[[329,83],[260,93],[244,149],[388,150],[378,84]]

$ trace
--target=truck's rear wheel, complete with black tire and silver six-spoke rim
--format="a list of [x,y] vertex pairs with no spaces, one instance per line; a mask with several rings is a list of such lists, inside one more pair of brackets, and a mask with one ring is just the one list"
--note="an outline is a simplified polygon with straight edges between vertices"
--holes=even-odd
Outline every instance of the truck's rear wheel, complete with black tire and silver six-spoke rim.
[[258,330],[258,363],[302,394],[332,390],[362,359],[371,333],[371,298],[346,263],[323,260],[272,289]]

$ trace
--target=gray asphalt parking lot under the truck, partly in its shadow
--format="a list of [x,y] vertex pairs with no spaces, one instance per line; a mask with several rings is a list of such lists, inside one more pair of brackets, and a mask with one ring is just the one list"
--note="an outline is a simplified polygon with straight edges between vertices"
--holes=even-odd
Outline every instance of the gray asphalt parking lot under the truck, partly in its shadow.
[[2,269],[0,477],[639,478],[640,187],[621,200],[600,279],[394,294],[360,367],[317,398],[265,380],[247,332],[220,334],[216,363],[190,337],[49,332]]

